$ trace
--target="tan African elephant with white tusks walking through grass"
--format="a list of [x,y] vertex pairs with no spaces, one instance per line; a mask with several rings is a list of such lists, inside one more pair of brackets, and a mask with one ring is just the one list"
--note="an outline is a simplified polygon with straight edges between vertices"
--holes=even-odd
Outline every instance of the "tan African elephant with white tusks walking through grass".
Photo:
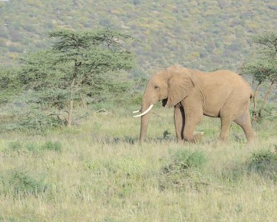
[[248,141],[254,138],[249,114],[252,90],[246,80],[228,70],[204,72],[184,67],[168,67],[148,81],[143,94],[140,142],[145,139],[149,111],[158,101],[174,106],[177,140],[194,142],[193,132],[203,115],[220,117],[220,139],[225,142],[234,121],[242,127]]

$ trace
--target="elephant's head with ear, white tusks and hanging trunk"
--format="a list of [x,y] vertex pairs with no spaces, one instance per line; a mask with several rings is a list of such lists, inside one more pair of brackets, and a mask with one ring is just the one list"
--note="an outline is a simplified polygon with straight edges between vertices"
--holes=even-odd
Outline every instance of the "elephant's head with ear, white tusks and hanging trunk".
[[[195,76],[184,67],[169,67],[158,71],[148,81],[143,101],[141,105],[141,114],[134,117],[141,117],[141,134],[140,142],[145,139],[149,122],[149,111],[153,105],[163,101],[163,106],[168,108],[182,101],[189,96],[195,87]],[[139,112],[134,111],[134,112]]]

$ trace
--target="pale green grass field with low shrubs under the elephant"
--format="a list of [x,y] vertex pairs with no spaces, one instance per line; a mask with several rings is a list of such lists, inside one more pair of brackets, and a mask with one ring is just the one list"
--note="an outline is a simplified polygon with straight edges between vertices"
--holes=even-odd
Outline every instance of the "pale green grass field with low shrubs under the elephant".
[[154,108],[140,146],[131,111],[2,133],[0,221],[277,221],[276,121],[255,124],[253,144],[234,124],[220,144],[220,121],[207,117],[201,142],[178,144],[172,110]]

